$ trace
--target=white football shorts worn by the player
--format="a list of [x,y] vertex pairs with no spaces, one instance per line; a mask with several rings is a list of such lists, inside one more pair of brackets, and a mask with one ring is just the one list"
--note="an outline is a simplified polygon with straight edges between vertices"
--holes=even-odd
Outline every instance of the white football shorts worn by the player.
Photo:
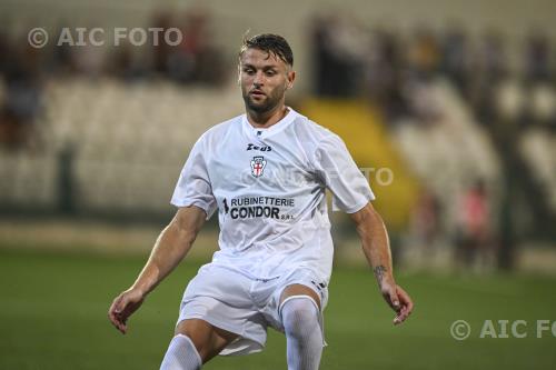
[[178,323],[201,319],[239,334],[220,352],[222,356],[259,352],[265,348],[267,327],[284,332],[280,296],[290,284],[304,284],[320,297],[319,322],[324,330],[322,310],[328,301],[328,287],[311,270],[297,269],[275,279],[260,280],[210,263],[201,267],[187,286]]

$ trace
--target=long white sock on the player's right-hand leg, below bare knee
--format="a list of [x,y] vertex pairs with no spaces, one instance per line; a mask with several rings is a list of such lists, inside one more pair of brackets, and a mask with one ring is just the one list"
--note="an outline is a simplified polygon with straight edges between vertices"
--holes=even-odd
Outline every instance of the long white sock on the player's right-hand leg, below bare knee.
[[284,301],[280,312],[288,370],[317,370],[324,343],[317,303],[307,296],[294,296]]

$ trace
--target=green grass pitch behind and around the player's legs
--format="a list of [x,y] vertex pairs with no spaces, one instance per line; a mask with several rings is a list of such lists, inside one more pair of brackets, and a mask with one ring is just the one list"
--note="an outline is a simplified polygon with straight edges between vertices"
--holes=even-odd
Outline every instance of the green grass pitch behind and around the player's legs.
[[[0,369],[158,369],[182,289],[200,262],[183,262],[121,336],[107,310],[143,261],[0,250]],[[398,282],[416,310],[394,327],[369,271],[335,269],[321,369],[554,369],[556,338],[550,331],[537,338],[536,320],[556,321],[556,279],[400,273]],[[471,326],[465,341],[449,332],[458,319]],[[485,320],[525,320],[519,332],[527,338],[479,338]],[[284,336],[270,330],[264,352],[219,357],[203,369],[286,369]]]

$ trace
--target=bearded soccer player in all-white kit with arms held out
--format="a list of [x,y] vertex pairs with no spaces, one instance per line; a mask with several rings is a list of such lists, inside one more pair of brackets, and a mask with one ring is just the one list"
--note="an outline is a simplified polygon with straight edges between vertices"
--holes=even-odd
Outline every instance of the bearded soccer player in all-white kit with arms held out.
[[216,354],[260,351],[267,327],[286,334],[288,369],[318,369],[332,266],[326,189],[332,207],[351,216],[380,291],[397,313],[394,323],[413,310],[394,280],[386,228],[370,203],[375,197],[346,146],[285,106],[292,66],[280,36],[244,42],[246,113],[195,143],[171,199],[175,218],[135,283],[109,309],[110,321],[126,333],[129,317],[218,211],[220,249],[186,288],[162,370],[199,369]]

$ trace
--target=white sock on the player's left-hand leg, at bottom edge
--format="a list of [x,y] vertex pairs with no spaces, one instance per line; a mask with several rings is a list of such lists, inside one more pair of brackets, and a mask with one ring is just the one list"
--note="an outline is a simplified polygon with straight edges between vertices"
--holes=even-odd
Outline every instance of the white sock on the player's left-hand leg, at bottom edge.
[[170,341],[160,370],[198,370],[201,366],[201,357],[191,339],[183,334],[177,334]]

